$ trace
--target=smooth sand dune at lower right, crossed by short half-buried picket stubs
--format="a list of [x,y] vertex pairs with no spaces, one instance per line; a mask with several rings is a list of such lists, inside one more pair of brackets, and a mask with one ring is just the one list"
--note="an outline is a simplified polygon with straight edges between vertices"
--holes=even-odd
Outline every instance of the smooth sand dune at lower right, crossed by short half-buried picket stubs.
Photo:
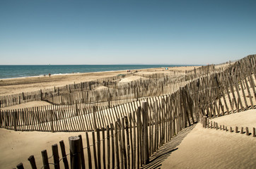
[[[248,120],[248,118],[250,118]],[[235,113],[216,118],[214,121],[234,125],[256,127],[256,110]],[[234,119],[234,120],[233,120]],[[163,161],[161,168],[255,168],[256,138],[252,135],[206,129],[202,124],[187,137]]]

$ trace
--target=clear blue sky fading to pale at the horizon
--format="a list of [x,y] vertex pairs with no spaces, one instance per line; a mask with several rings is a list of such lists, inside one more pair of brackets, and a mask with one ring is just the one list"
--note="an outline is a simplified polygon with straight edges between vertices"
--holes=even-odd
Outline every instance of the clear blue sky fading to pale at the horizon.
[[256,1],[0,1],[0,65],[207,64],[256,54]]

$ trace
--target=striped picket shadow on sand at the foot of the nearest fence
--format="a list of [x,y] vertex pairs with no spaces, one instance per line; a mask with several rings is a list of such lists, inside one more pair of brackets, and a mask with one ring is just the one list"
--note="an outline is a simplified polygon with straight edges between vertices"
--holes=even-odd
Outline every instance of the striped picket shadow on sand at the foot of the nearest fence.
[[170,142],[167,142],[163,146],[161,146],[156,153],[154,153],[150,158],[149,158],[149,163],[147,165],[142,166],[141,168],[146,169],[146,168],[161,168],[161,162],[165,161],[168,156],[173,151],[178,150],[176,146],[180,145],[182,140],[189,134],[193,128],[195,127],[196,124],[191,125],[190,127],[185,128],[182,130],[182,132],[179,132],[178,135],[173,137],[173,139],[170,140]]

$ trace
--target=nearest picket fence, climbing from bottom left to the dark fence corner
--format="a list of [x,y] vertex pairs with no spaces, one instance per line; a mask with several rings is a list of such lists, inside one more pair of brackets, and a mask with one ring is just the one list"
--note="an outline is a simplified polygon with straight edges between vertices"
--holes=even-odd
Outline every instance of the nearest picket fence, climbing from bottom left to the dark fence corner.
[[[183,107],[185,104],[180,101],[182,99],[175,98],[175,94],[162,101],[153,101],[152,104],[142,101],[136,111],[117,118],[115,123],[102,128],[94,126],[95,130],[91,132],[93,142],[89,142],[86,132],[85,148],[81,144],[81,136],[69,137],[69,162],[64,142],[60,142],[61,159],[57,144],[54,144],[52,163],[48,160],[47,151],[42,151],[43,168],[50,168],[50,165],[60,168],[61,161],[64,168],[69,168],[69,164],[71,168],[139,168],[149,163],[149,156],[153,152],[187,127],[186,121],[196,123],[192,119],[197,119],[197,115],[186,115]],[[35,158],[30,156],[28,160],[32,168],[36,168]],[[23,164],[18,164],[17,168],[23,168]]]

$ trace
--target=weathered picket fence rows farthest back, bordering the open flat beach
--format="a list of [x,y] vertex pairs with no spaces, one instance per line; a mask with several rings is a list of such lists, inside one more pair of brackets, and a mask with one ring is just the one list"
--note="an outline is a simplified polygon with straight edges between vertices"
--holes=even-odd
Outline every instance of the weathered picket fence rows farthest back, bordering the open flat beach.
[[[210,71],[213,70],[213,71]],[[222,69],[214,69],[213,66],[202,66],[197,70],[180,73],[180,71],[170,71],[170,73],[154,73],[153,75],[142,75],[148,77],[148,80],[137,80],[129,84],[117,83],[124,77],[134,74],[117,75],[114,77],[106,77],[90,82],[81,82],[77,84],[69,84],[64,87],[54,87],[52,89],[40,89],[35,92],[26,92],[21,94],[11,94],[8,96],[0,96],[0,108],[23,104],[29,101],[49,101],[52,104],[75,104],[76,102],[90,101],[107,101],[122,100],[125,98],[136,98],[145,96],[161,96],[168,94],[166,89],[175,88],[175,84],[184,83],[187,80],[194,80],[202,75],[208,75],[214,71]],[[139,74],[138,74],[139,75]],[[170,87],[173,85],[173,87]],[[106,86],[108,90],[95,91],[96,87]],[[159,92],[158,88],[161,88]],[[143,91],[151,92],[143,92]]]

